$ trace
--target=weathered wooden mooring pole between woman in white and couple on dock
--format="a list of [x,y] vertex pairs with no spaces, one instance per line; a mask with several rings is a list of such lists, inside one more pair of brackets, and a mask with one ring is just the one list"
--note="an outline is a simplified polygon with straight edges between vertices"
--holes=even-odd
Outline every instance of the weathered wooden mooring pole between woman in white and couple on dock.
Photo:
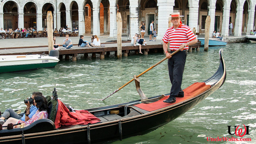
[[117,58],[122,58],[122,17],[117,13]]

